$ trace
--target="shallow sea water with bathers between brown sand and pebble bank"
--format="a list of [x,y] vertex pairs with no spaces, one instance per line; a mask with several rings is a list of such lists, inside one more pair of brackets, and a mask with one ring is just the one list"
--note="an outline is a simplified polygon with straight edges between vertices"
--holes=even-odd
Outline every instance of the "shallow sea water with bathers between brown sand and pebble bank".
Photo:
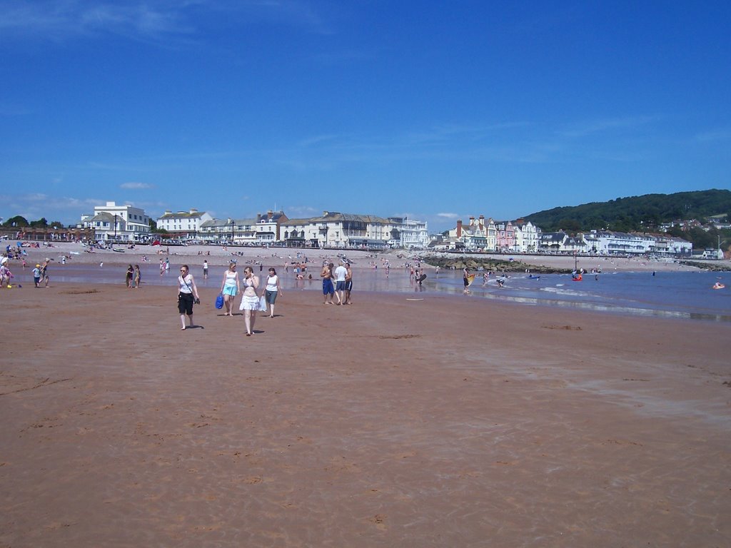
[[[312,271],[312,280],[296,280],[292,270],[283,272],[279,265],[280,283],[283,289],[301,289],[320,292],[319,267]],[[178,265],[170,266],[170,273],[159,275],[157,263],[140,265],[143,286],[175,286]],[[266,275],[267,266],[260,275]],[[208,280],[202,277],[202,269],[194,267],[193,275],[199,288],[219,289],[225,267],[211,266]],[[16,269],[17,272],[17,269]],[[97,265],[52,265],[49,268],[51,282],[73,283],[124,283],[126,267]],[[706,321],[731,321],[731,273],[711,272],[651,272],[605,273],[596,276],[586,274],[583,281],[572,281],[567,274],[544,274],[529,278],[528,274],[514,273],[507,278],[504,288],[497,286],[495,277],[487,283],[482,273],[477,273],[469,294],[463,293],[461,270],[442,270],[429,273],[420,286],[409,279],[408,270],[392,268],[354,270],[354,300],[357,292],[458,294],[465,298],[520,302],[524,305],[551,305],[576,309],[630,313],[642,316],[664,316]],[[15,283],[32,288],[31,269],[16,274]],[[721,281],[725,289],[711,289]]]

